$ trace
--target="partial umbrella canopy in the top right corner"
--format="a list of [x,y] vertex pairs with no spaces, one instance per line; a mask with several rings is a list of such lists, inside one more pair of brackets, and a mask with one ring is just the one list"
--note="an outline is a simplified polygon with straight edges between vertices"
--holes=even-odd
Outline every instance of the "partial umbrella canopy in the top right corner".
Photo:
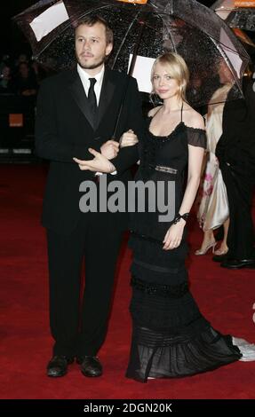
[[255,31],[255,0],[219,0],[211,8],[230,28]]

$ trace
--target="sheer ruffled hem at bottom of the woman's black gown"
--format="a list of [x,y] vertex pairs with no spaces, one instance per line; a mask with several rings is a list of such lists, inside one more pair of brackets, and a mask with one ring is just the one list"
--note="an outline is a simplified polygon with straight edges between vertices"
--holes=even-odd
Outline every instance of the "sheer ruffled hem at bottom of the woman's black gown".
[[204,327],[197,334],[158,333],[134,327],[127,378],[180,378],[211,371],[242,358],[230,335]]

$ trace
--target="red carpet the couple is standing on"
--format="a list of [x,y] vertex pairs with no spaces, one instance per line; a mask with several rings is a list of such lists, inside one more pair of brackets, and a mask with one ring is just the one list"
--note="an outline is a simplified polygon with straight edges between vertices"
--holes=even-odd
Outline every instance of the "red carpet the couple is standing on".
[[[44,190],[42,166],[2,166],[1,195],[1,398],[255,398],[255,362],[237,362],[207,374],[179,380],[133,382],[124,377],[131,322],[129,265],[124,245],[108,337],[100,351],[104,375],[85,378],[77,365],[64,378],[50,379],[47,263],[44,229],[39,223]],[[252,309],[255,271],[229,271],[211,255],[193,256],[202,232],[190,232],[191,289],[201,311],[222,333],[255,342]]]

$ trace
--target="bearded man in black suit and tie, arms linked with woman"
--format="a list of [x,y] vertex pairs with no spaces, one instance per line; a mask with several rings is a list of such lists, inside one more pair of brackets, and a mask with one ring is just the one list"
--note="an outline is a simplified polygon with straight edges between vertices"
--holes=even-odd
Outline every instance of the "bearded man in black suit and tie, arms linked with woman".
[[[53,377],[67,374],[74,358],[85,376],[102,374],[96,355],[107,332],[127,213],[80,211],[80,184],[97,181],[91,170],[80,169],[76,161],[92,160],[95,171],[99,165],[108,172],[108,183],[118,179],[127,185],[129,168],[138,159],[137,146],[119,150],[117,142],[108,140],[122,102],[117,137],[126,130],[139,134],[142,125],[136,81],[105,67],[112,47],[113,34],[105,20],[91,16],[80,21],[76,27],[76,69],[45,80],[38,95],[36,153],[51,161],[43,225],[47,230],[50,324],[55,340],[47,374]],[[85,289],[80,303],[83,259]]]

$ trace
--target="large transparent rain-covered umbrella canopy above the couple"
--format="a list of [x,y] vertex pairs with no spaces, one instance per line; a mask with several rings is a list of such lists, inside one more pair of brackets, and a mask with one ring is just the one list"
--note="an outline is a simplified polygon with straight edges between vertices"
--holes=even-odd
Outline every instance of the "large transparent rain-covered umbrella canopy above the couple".
[[[154,59],[164,51],[175,51],[190,70],[187,98],[194,106],[208,103],[219,83],[235,83],[233,98],[242,95],[249,56],[224,21],[195,0],[41,0],[14,20],[39,62],[64,69],[76,62],[74,28],[89,14],[100,15],[114,31],[110,67],[127,72],[138,49],[133,75],[139,78],[140,90],[151,89]],[[219,67],[224,66],[228,78],[222,82]]]

